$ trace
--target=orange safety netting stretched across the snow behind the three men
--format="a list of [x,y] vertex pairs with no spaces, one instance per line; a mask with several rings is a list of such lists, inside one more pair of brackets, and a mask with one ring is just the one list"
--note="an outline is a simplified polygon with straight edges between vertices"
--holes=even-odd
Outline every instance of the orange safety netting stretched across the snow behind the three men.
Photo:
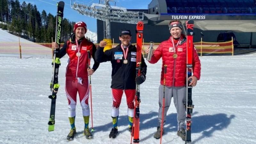
[[[60,47],[64,43],[60,44]],[[154,49],[158,47],[160,43],[153,45]],[[112,47],[116,47],[118,43],[113,43]],[[136,43],[132,44],[136,46]],[[142,54],[144,50],[148,48],[150,43],[142,44]],[[198,54],[227,54],[233,53],[232,41],[228,42],[195,42],[194,43]],[[98,44],[95,44],[98,47]],[[0,54],[19,54],[20,50],[22,54],[52,54],[52,43],[18,43],[18,42],[0,42]]]

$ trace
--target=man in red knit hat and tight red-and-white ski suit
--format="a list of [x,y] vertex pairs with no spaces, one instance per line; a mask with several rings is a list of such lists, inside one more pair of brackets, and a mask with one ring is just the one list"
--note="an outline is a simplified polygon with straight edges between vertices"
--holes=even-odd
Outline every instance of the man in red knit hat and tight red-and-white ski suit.
[[[82,21],[76,22],[74,25],[74,34],[71,40],[68,40],[60,49],[60,58],[68,54],[68,65],[66,68],[65,90],[68,98],[68,119],[71,130],[67,136],[67,140],[73,140],[76,133],[75,117],[76,117],[76,95],[79,94],[80,104],[84,117],[84,132],[86,139],[92,138],[89,130],[90,108],[88,99],[90,95],[88,75],[92,75],[99,67],[100,63],[94,59],[96,46],[84,37],[86,33],[86,24]],[[56,42],[52,43],[52,48],[59,48]],[[90,57],[94,59],[92,69],[87,68],[88,52]]]

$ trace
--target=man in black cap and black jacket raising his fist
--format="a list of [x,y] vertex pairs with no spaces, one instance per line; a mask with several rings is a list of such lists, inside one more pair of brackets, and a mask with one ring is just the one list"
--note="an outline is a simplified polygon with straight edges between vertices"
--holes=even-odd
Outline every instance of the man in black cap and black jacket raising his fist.
[[134,98],[136,92],[136,83],[141,84],[146,80],[147,65],[141,55],[141,71],[140,76],[136,77],[136,54],[137,48],[131,44],[131,31],[121,30],[119,40],[121,43],[115,48],[103,52],[107,42],[100,41],[99,47],[95,53],[95,60],[98,62],[111,61],[112,63],[112,94],[113,105],[112,114],[113,128],[109,134],[109,138],[115,138],[117,131],[117,120],[119,116],[119,106],[123,92],[126,95],[128,106],[129,131],[132,132]]

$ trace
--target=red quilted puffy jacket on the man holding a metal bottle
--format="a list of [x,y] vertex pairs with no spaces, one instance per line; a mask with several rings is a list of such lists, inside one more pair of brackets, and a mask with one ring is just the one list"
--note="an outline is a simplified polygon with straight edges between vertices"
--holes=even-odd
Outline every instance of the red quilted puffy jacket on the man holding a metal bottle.
[[[160,83],[164,84],[164,65],[167,65],[166,71],[166,86],[186,86],[186,65],[187,65],[187,42],[185,35],[181,35],[180,43],[176,47],[175,51],[178,57],[174,59],[172,55],[173,44],[172,44],[172,36],[168,39],[160,43],[160,45],[154,51],[151,61],[149,63],[156,63],[161,57],[163,60],[162,63],[162,72],[161,72],[161,81]],[[195,46],[194,46],[195,47]],[[196,51],[196,48],[193,49],[193,76],[196,76],[197,80],[200,79],[201,73],[201,63]]]

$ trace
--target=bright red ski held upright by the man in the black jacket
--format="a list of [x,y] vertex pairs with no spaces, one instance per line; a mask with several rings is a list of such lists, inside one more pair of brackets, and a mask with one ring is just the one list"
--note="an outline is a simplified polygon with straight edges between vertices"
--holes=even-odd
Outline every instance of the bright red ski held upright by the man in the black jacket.
[[[139,21],[136,27],[137,35],[137,56],[136,56],[136,72],[137,76],[140,76],[141,69],[141,50],[142,50],[142,39],[143,39],[143,22]],[[140,132],[140,85],[136,84],[136,94],[135,94],[135,108],[134,108],[134,118],[132,126],[133,143],[139,143],[139,132]]]

